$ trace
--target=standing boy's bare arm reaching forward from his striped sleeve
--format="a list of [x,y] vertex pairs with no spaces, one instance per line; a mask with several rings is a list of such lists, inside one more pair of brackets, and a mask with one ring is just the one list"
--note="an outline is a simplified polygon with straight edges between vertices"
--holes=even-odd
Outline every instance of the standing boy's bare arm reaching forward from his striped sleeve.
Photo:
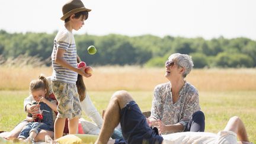
[[88,66],[85,66],[83,68],[75,68],[71,64],[69,64],[65,59],[63,59],[63,55],[65,52],[66,52],[65,49],[57,49],[56,56],[55,56],[56,63],[58,63],[59,65],[65,67],[65,68],[71,69],[72,71],[77,72],[80,75],[85,76],[87,78],[89,76],[91,76],[91,74],[85,73],[85,71],[84,71],[85,68],[87,68]]

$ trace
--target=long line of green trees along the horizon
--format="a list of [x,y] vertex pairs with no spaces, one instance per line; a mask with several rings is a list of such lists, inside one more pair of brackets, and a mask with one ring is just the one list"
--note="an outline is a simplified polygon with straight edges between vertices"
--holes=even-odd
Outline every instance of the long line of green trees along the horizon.
[[[50,65],[56,33],[8,33],[0,30],[0,55],[4,59],[20,55],[37,56]],[[76,34],[75,40],[78,55],[88,65],[164,66],[171,53],[185,53],[192,56],[194,68],[256,66],[256,41],[245,37],[225,39],[221,36],[205,40],[201,37]],[[91,45],[97,48],[95,55],[87,52]]]

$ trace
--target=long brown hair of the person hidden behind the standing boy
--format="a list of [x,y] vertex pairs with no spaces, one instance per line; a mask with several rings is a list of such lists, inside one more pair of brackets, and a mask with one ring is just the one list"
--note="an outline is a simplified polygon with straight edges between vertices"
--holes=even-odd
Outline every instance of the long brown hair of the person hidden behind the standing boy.
[[[76,55],[76,60],[78,63],[81,62],[81,59],[78,55]],[[85,87],[82,75],[78,74],[78,79],[76,81],[76,87],[78,88],[79,100],[83,101],[85,99],[87,89]]]

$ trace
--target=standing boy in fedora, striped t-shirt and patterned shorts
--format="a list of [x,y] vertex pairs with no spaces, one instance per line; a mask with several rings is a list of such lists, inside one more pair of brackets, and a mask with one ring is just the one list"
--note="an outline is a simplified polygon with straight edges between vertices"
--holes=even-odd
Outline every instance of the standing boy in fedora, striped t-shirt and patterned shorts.
[[78,73],[89,77],[83,68],[76,66],[76,45],[72,30],[79,30],[88,18],[91,9],[84,7],[81,0],[68,1],[62,7],[65,27],[60,30],[54,40],[52,52],[52,90],[58,101],[57,118],[55,120],[55,139],[62,136],[65,119],[69,119],[69,134],[78,132],[78,119],[81,117],[81,104],[76,88]]

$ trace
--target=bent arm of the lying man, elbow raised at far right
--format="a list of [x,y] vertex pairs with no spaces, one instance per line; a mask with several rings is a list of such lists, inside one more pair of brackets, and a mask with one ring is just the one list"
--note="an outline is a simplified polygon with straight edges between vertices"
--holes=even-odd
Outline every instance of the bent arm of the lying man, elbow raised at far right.
[[228,124],[224,130],[235,132],[239,140],[243,142],[249,142],[244,123],[237,116],[231,117],[231,119],[229,119]]

